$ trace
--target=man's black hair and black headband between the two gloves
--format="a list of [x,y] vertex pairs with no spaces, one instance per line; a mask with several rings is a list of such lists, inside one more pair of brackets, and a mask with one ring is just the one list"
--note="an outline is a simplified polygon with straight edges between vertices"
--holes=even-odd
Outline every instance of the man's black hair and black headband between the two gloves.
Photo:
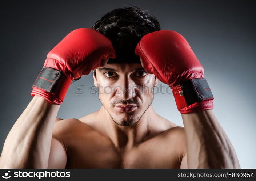
[[[116,58],[108,63],[140,63],[134,53],[140,39],[148,33],[161,30],[156,17],[137,6],[114,9],[92,26],[112,42]],[[95,72],[95,71],[94,71]]]

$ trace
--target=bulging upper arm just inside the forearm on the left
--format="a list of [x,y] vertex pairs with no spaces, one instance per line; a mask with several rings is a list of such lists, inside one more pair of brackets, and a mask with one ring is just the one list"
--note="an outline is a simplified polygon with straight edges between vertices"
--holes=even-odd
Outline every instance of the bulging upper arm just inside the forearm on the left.
[[48,168],[65,168],[66,163],[67,154],[64,147],[57,139],[52,138]]

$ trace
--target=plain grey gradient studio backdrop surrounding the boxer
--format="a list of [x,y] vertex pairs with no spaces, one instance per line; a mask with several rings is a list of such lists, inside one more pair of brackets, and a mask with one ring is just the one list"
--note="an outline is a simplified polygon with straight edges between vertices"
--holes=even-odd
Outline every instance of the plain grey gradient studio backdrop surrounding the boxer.
[[[256,4],[249,0],[1,2],[0,150],[32,99],[31,86],[48,51],[73,29],[90,28],[108,11],[129,5],[149,10],[163,30],[177,31],[187,39],[204,66],[215,97],[213,111],[235,147],[241,168],[256,168]],[[73,83],[58,117],[80,118],[98,110],[97,95],[89,94],[92,85],[91,74]],[[80,96],[73,92],[79,88],[85,91]],[[156,94],[153,108],[183,126],[172,95]]]

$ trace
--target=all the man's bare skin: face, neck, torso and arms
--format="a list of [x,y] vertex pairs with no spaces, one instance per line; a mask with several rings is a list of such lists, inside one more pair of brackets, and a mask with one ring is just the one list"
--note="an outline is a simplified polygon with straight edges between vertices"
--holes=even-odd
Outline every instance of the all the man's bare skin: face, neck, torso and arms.
[[5,140],[0,168],[240,168],[211,110],[182,114],[184,127],[155,113],[145,86],[158,80],[141,64],[107,64],[93,78],[102,106],[80,119],[56,118],[60,105],[33,97]]

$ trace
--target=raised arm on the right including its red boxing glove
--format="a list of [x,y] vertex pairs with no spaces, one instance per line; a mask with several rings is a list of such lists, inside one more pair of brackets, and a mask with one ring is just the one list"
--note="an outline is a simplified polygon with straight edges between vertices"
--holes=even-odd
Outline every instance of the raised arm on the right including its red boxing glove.
[[239,168],[235,151],[211,111],[213,95],[204,68],[185,38],[171,30],[155,31],[140,40],[135,53],[147,72],[172,89],[187,141],[181,168]]

